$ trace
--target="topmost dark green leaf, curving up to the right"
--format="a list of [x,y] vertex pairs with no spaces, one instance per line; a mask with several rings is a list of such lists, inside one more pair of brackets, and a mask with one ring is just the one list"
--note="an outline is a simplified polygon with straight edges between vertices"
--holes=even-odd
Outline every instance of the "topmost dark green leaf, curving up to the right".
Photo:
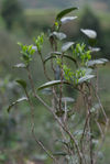
[[74,11],[74,10],[78,10],[78,8],[69,8],[69,9],[65,9],[63,11],[61,11],[57,15],[56,15],[56,21],[59,21],[65,14]]

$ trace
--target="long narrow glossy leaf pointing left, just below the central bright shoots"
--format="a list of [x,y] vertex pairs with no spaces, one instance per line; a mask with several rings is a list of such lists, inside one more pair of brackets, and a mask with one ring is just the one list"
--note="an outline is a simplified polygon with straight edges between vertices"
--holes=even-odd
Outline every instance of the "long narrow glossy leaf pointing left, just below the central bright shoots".
[[[42,90],[44,88],[48,88],[48,87],[53,87],[53,86],[56,86],[56,85],[61,85],[61,84],[68,84],[67,81],[62,81],[62,80],[52,80],[52,81],[48,81],[48,83],[45,83],[44,85],[40,86],[37,88],[37,90]],[[69,84],[68,84],[69,85]]]

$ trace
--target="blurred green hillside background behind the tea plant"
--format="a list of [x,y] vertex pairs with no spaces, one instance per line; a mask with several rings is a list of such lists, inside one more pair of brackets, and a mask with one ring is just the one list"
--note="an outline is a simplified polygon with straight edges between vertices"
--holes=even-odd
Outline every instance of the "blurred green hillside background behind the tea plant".
[[[94,57],[110,59],[110,0],[0,0],[0,164],[51,164],[32,139],[28,105],[15,106],[11,113],[7,112],[7,107],[23,94],[14,79],[26,79],[25,72],[12,68],[20,62],[16,43],[34,44],[33,37],[51,29],[57,12],[72,6],[79,7],[79,10],[72,13],[78,19],[63,26],[68,40],[82,41],[81,28],[96,30],[97,46],[101,47],[101,52]],[[46,54],[48,51],[45,41],[43,52]],[[36,87],[45,80],[38,59],[36,56],[32,72]],[[99,67],[99,94],[108,117],[109,84],[110,63]],[[37,107],[35,132],[44,144],[53,150],[52,116],[38,102],[34,106]],[[98,164],[110,164],[110,130]]]

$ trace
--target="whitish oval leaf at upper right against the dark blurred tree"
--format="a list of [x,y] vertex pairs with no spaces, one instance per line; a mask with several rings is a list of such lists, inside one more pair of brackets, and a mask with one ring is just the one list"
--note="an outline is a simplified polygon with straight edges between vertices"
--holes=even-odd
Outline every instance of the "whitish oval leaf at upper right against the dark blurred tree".
[[96,39],[97,33],[94,30],[88,30],[88,29],[81,29],[80,30],[85,35],[87,35],[89,39]]

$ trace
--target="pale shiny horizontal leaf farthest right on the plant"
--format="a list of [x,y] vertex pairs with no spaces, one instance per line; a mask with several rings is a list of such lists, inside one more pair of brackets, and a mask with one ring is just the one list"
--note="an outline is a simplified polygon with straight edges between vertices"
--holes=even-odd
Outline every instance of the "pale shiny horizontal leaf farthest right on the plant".
[[92,59],[92,61],[87,62],[87,66],[91,67],[91,66],[95,66],[97,64],[105,64],[107,62],[109,62],[107,58]]

